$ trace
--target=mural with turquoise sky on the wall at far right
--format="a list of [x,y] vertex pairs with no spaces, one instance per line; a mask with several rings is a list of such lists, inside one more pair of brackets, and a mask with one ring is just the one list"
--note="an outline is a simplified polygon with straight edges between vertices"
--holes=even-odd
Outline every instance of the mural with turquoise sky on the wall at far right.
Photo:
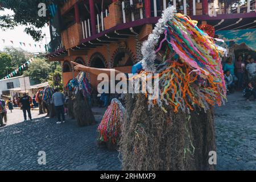
[[247,55],[256,56],[256,29],[244,30],[224,30],[216,31],[215,34],[224,43],[219,42],[219,46],[228,49],[228,57],[233,60],[241,55],[245,59]]

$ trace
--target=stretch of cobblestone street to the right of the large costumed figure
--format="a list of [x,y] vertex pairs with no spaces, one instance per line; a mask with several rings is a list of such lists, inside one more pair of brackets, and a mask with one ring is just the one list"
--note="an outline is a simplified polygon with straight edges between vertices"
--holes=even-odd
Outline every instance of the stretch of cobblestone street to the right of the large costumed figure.
[[215,109],[217,170],[256,169],[256,102],[241,93]]

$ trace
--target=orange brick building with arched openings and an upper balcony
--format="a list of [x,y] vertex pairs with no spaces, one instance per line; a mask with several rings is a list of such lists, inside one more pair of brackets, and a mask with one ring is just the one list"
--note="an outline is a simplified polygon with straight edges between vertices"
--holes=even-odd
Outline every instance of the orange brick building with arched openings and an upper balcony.
[[[249,1],[245,7],[227,7],[216,0],[66,0],[51,8],[47,55],[50,61],[61,62],[64,86],[77,74],[70,61],[131,72],[132,65],[142,59],[142,42],[168,5],[221,30],[231,30],[233,26],[247,28],[246,23],[256,25],[255,1]],[[97,85],[95,76],[86,76],[93,86]]]

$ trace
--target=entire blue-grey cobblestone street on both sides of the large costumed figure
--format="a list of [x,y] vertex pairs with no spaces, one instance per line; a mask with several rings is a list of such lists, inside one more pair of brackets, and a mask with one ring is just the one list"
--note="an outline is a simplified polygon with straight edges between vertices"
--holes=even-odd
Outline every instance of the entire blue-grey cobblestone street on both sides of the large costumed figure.
[[[228,98],[215,109],[216,169],[256,169],[256,102],[245,102],[237,93]],[[0,128],[0,170],[121,170],[117,151],[97,147],[101,115],[88,127],[72,120],[56,125],[38,111],[32,111],[32,122],[22,122],[18,109],[8,117],[9,125]],[[46,165],[38,164],[39,151],[46,152]]]

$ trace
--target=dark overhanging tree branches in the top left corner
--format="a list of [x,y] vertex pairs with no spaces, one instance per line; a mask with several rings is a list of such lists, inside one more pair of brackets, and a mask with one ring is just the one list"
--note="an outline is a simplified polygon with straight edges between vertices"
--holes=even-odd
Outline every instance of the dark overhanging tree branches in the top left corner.
[[[38,16],[39,3],[45,3],[47,6],[46,16]],[[0,0],[0,11],[10,9],[14,11],[14,15],[0,16],[1,28],[14,28],[17,25],[26,26],[26,33],[31,35],[35,41],[42,40],[42,28],[50,20],[49,5],[61,6],[64,1],[58,0]]]

